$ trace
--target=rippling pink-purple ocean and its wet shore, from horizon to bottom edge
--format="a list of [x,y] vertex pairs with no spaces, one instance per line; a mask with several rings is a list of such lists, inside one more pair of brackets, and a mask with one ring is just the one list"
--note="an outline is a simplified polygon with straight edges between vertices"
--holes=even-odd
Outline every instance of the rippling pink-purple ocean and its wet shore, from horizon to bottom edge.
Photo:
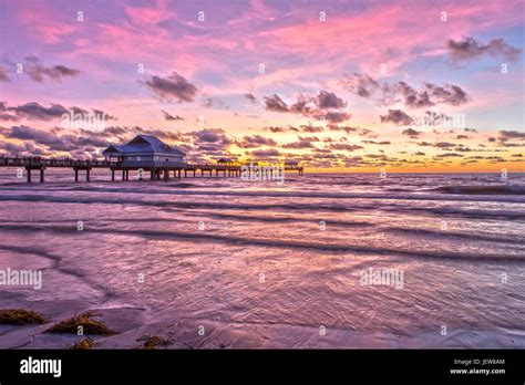
[[[525,347],[525,174],[2,173],[0,270],[42,282],[0,309],[96,310],[100,347]],[[44,330],[1,325],[0,347],[78,340]]]

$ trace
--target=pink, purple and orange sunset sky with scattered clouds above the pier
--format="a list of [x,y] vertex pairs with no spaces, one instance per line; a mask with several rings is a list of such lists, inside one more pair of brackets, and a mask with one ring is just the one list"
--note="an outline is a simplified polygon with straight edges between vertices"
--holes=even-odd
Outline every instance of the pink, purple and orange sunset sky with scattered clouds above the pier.
[[525,171],[524,7],[0,0],[0,154]]

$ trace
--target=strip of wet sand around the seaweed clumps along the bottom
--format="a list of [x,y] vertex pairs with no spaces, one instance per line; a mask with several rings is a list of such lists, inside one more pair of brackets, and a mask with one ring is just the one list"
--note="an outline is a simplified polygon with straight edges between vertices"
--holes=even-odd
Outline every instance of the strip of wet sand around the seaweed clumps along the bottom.
[[[89,337],[94,348],[141,348],[141,341],[154,336],[167,341],[164,348],[524,348],[525,330],[497,329],[466,330],[451,329],[447,335],[435,330],[420,330],[412,335],[389,332],[362,332],[326,326],[321,333],[311,325],[280,323],[239,323],[200,321],[189,314],[174,319],[171,309],[159,311],[156,320],[147,322],[151,315],[145,308],[93,306],[87,301],[28,301],[13,295],[2,301],[1,309],[22,308],[42,313],[48,318],[44,324],[0,324],[0,348],[71,348]],[[75,335],[70,333],[45,333],[53,324],[71,316],[95,311],[97,320],[117,334]],[[371,318],[373,320],[373,316]]]

